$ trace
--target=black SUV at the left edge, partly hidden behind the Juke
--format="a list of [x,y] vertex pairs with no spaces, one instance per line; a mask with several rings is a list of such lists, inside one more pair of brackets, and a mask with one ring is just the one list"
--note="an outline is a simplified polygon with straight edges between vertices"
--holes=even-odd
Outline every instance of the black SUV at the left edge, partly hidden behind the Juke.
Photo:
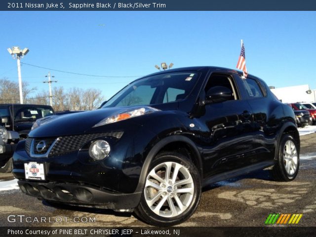
[[36,119],[48,115],[54,115],[50,106],[0,104],[0,172],[11,172],[17,142],[27,137]]

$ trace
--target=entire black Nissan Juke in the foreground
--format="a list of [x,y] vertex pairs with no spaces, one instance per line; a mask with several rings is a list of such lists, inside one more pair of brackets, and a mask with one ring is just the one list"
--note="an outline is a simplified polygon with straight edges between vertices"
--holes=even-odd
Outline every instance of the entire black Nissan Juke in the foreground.
[[292,109],[254,76],[218,67],[158,72],[101,109],[40,124],[13,156],[22,192],[50,203],[134,211],[171,226],[196,210],[201,188],[273,166],[299,169]]

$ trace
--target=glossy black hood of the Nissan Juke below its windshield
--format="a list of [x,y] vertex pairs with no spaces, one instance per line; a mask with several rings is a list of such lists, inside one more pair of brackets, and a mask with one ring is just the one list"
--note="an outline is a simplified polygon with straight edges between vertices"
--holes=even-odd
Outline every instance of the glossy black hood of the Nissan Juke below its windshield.
[[[135,107],[135,109],[136,108],[140,107],[138,106]],[[47,123],[44,123],[32,130],[29,133],[29,137],[57,137],[90,133],[92,127],[104,118],[126,110],[133,110],[133,107],[104,108],[75,114],[55,116]],[[93,130],[95,131],[96,129]]]

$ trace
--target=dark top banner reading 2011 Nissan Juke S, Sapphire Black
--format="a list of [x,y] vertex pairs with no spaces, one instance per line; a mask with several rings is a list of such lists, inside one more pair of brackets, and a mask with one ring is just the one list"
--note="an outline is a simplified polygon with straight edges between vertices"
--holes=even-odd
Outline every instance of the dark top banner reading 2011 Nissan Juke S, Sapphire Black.
[[314,11],[315,0],[1,0],[1,11]]

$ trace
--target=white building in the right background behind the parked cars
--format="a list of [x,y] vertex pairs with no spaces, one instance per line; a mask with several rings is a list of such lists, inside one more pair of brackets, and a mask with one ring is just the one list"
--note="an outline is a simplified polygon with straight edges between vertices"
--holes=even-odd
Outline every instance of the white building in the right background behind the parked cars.
[[316,102],[316,90],[311,90],[308,84],[271,89],[283,103]]

